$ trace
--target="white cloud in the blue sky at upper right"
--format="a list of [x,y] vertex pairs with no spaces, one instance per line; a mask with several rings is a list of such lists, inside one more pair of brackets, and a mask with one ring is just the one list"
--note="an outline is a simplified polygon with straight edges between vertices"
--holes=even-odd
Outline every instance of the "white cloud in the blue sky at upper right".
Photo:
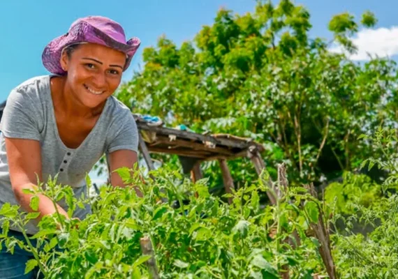
[[[352,38],[358,52],[348,55],[355,61],[367,61],[370,57],[391,57],[398,54],[398,27],[362,29]],[[342,53],[340,46],[334,46],[331,52]]]

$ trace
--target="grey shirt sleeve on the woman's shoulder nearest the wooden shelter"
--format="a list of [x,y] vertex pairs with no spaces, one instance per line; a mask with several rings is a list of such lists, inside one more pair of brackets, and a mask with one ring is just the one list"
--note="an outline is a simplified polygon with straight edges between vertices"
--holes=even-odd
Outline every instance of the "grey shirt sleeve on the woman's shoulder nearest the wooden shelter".
[[131,112],[126,112],[118,117],[110,127],[112,140],[108,144],[108,153],[120,149],[138,152],[138,128]]

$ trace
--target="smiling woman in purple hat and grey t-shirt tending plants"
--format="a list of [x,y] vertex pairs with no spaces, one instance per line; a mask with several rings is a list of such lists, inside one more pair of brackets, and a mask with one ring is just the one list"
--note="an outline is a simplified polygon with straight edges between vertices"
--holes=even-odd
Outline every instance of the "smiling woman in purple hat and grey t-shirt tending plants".
[[[52,40],[43,51],[43,65],[52,75],[34,77],[11,91],[0,123],[0,206],[8,202],[31,212],[31,195],[22,192],[58,174],[57,182],[73,187],[76,197],[85,193],[85,175],[105,153],[112,186],[124,186],[113,172],[137,161],[138,130],[128,107],[112,96],[140,45],[126,41],[124,30],[106,17],[84,17],[68,33]],[[36,176],[36,174],[38,176]],[[67,206],[58,210],[68,218]],[[38,231],[38,221],[56,211],[50,199],[40,196],[40,216],[25,227]],[[77,209],[84,218],[89,209]],[[18,229],[10,234],[22,239]],[[3,247],[0,278],[24,275],[27,252]]]

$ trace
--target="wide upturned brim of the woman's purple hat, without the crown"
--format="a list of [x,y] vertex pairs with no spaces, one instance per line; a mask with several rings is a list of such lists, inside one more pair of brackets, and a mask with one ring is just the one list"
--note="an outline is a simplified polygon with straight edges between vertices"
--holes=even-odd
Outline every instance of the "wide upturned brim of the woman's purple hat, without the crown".
[[126,43],[121,43],[114,38],[103,33],[100,29],[93,27],[87,22],[79,22],[75,24],[68,33],[54,38],[45,46],[42,54],[43,66],[55,75],[65,75],[66,71],[61,68],[61,54],[65,47],[77,43],[96,43],[111,47],[120,52],[124,52],[127,56],[124,70],[130,66],[131,59],[138,47],[140,47],[140,39],[133,37]]

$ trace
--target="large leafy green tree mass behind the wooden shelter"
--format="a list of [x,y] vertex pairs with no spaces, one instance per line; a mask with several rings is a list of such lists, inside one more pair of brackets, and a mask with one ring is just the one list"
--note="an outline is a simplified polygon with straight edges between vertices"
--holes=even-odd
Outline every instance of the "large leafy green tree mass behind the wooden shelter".
[[[143,70],[117,97],[169,126],[252,137],[267,146],[271,174],[283,160],[290,181],[320,183],[358,170],[374,152],[358,139],[362,133],[397,123],[395,62],[355,63],[328,50],[337,43],[355,52],[350,38],[374,24],[369,11],[359,23],[348,13],[335,15],[334,39],[325,42],[309,38],[309,11],[290,0],[257,1],[255,12],[244,15],[221,9],[193,41],[177,47],[162,36],[147,47]],[[238,183],[253,174],[246,160],[230,167]],[[207,169],[216,181],[214,167]]]

